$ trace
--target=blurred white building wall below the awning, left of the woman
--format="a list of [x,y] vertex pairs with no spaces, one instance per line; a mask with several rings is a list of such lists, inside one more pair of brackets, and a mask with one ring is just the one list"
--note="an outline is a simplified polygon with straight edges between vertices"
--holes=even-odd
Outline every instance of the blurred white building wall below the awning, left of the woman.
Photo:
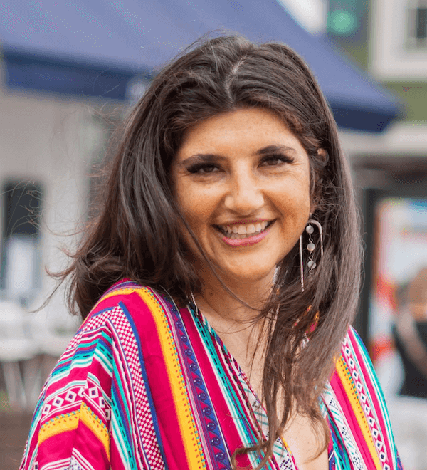
[[[77,100],[0,88],[0,187],[11,180],[34,181],[43,190],[38,301],[51,293],[56,282],[44,267],[55,272],[67,265],[60,246],[75,246],[78,236],[65,235],[73,234],[85,222],[90,160],[100,140],[91,114],[90,108]],[[0,204],[3,207],[2,199]],[[1,234],[3,224],[1,214]],[[3,296],[13,293],[3,292]],[[63,296],[58,297],[55,310],[64,315]]]

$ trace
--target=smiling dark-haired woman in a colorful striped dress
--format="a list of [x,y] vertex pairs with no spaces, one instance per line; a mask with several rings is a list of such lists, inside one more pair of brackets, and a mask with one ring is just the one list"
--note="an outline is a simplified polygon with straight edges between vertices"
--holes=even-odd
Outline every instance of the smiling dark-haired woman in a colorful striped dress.
[[398,469],[349,325],[359,228],[337,128],[288,46],[214,38],[128,117],[63,273],[85,318],[21,469]]

